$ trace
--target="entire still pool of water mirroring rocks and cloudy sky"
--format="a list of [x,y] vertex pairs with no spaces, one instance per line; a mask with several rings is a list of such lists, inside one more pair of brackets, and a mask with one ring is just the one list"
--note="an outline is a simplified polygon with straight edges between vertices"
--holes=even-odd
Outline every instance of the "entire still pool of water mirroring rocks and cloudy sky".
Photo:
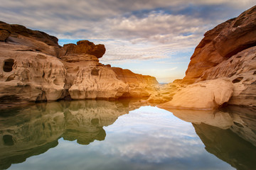
[[0,114],[0,169],[256,169],[252,108],[38,103]]

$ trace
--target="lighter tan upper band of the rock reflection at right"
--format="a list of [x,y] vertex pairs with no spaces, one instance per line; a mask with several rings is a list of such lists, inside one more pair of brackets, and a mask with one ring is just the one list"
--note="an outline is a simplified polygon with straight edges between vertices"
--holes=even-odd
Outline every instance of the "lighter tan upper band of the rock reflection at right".
[[195,111],[166,108],[181,120],[193,124],[205,123],[221,129],[230,129],[256,146],[256,109],[228,106],[223,111]]

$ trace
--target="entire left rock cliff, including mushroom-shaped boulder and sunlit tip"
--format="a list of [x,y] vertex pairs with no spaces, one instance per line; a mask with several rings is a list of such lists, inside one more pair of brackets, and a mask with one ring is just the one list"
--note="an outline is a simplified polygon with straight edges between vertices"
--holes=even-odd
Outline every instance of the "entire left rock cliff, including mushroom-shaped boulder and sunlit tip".
[[156,79],[101,64],[105,51],[88,40],[60,47],[51,35],[0,22],[0,101],[149,97]]

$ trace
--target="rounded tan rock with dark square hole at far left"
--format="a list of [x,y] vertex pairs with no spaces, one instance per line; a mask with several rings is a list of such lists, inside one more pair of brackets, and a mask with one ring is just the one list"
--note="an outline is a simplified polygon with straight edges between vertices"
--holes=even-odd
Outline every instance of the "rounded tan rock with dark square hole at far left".
[[56,57],[29,49],[0,42],[0,98],[20,102],[61,98],[65,84],[63,64]]

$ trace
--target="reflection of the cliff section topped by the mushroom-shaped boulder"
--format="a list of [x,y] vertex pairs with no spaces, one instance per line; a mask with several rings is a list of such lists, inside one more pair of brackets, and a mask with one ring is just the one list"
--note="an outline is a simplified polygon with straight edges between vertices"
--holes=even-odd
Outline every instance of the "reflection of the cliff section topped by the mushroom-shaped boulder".
[[65,111],[65,140],[78,140],[88,145],[94,140],[105,140],[103,126],[112,125],[120,115],[129,113],[121,103],[109,101],[71,101]]

